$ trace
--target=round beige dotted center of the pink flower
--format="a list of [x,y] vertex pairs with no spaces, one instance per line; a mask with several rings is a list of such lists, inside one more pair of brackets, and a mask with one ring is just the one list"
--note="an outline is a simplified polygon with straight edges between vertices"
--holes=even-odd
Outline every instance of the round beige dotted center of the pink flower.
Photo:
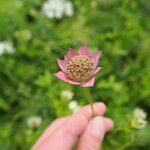
[[66,64],[66,75],[76,82],[87,81],[93,71],[93,62],[86,56],[77,55],[72,57]]

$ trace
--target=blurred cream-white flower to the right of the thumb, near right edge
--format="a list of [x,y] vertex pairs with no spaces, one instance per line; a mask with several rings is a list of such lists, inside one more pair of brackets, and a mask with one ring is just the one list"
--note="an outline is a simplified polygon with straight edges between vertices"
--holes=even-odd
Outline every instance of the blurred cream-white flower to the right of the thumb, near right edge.
[[143,109],[136,108],[133,113],[133,119],[131,121],[131,126],[136,129],[145,128],[145,126],[147,124],[147,121],[145,120],[146,116],[147,116],[147,114],[144,112]]

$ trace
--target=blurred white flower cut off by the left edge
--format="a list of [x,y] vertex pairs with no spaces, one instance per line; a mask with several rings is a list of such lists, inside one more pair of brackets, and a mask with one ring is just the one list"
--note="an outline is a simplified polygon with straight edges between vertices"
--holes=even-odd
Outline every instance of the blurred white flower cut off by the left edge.
[[11,42],[0,41],[0,55],[3,54],[4,52],[9,54],[14,52],[14,47]]

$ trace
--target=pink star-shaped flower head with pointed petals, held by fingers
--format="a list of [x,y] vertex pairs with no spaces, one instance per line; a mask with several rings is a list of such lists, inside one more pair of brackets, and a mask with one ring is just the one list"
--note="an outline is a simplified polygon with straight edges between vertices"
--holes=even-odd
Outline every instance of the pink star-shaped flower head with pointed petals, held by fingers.
[[95,75],[101,69],[97,67],[100,56],[100,52],[89,53],[86,45],[82,45],[78,52],[69,48],[64,60],[57,60],[61,71],[55,73],[55,76],[81,87],[93,86]]

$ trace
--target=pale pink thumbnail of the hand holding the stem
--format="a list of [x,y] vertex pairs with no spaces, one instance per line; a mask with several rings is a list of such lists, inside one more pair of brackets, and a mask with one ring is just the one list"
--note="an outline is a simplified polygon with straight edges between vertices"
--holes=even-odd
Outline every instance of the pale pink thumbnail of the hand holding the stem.
[[91,124],[91,133],[97,138],[103,139],[105,130],[105,123],[102,117],[95,117]]

